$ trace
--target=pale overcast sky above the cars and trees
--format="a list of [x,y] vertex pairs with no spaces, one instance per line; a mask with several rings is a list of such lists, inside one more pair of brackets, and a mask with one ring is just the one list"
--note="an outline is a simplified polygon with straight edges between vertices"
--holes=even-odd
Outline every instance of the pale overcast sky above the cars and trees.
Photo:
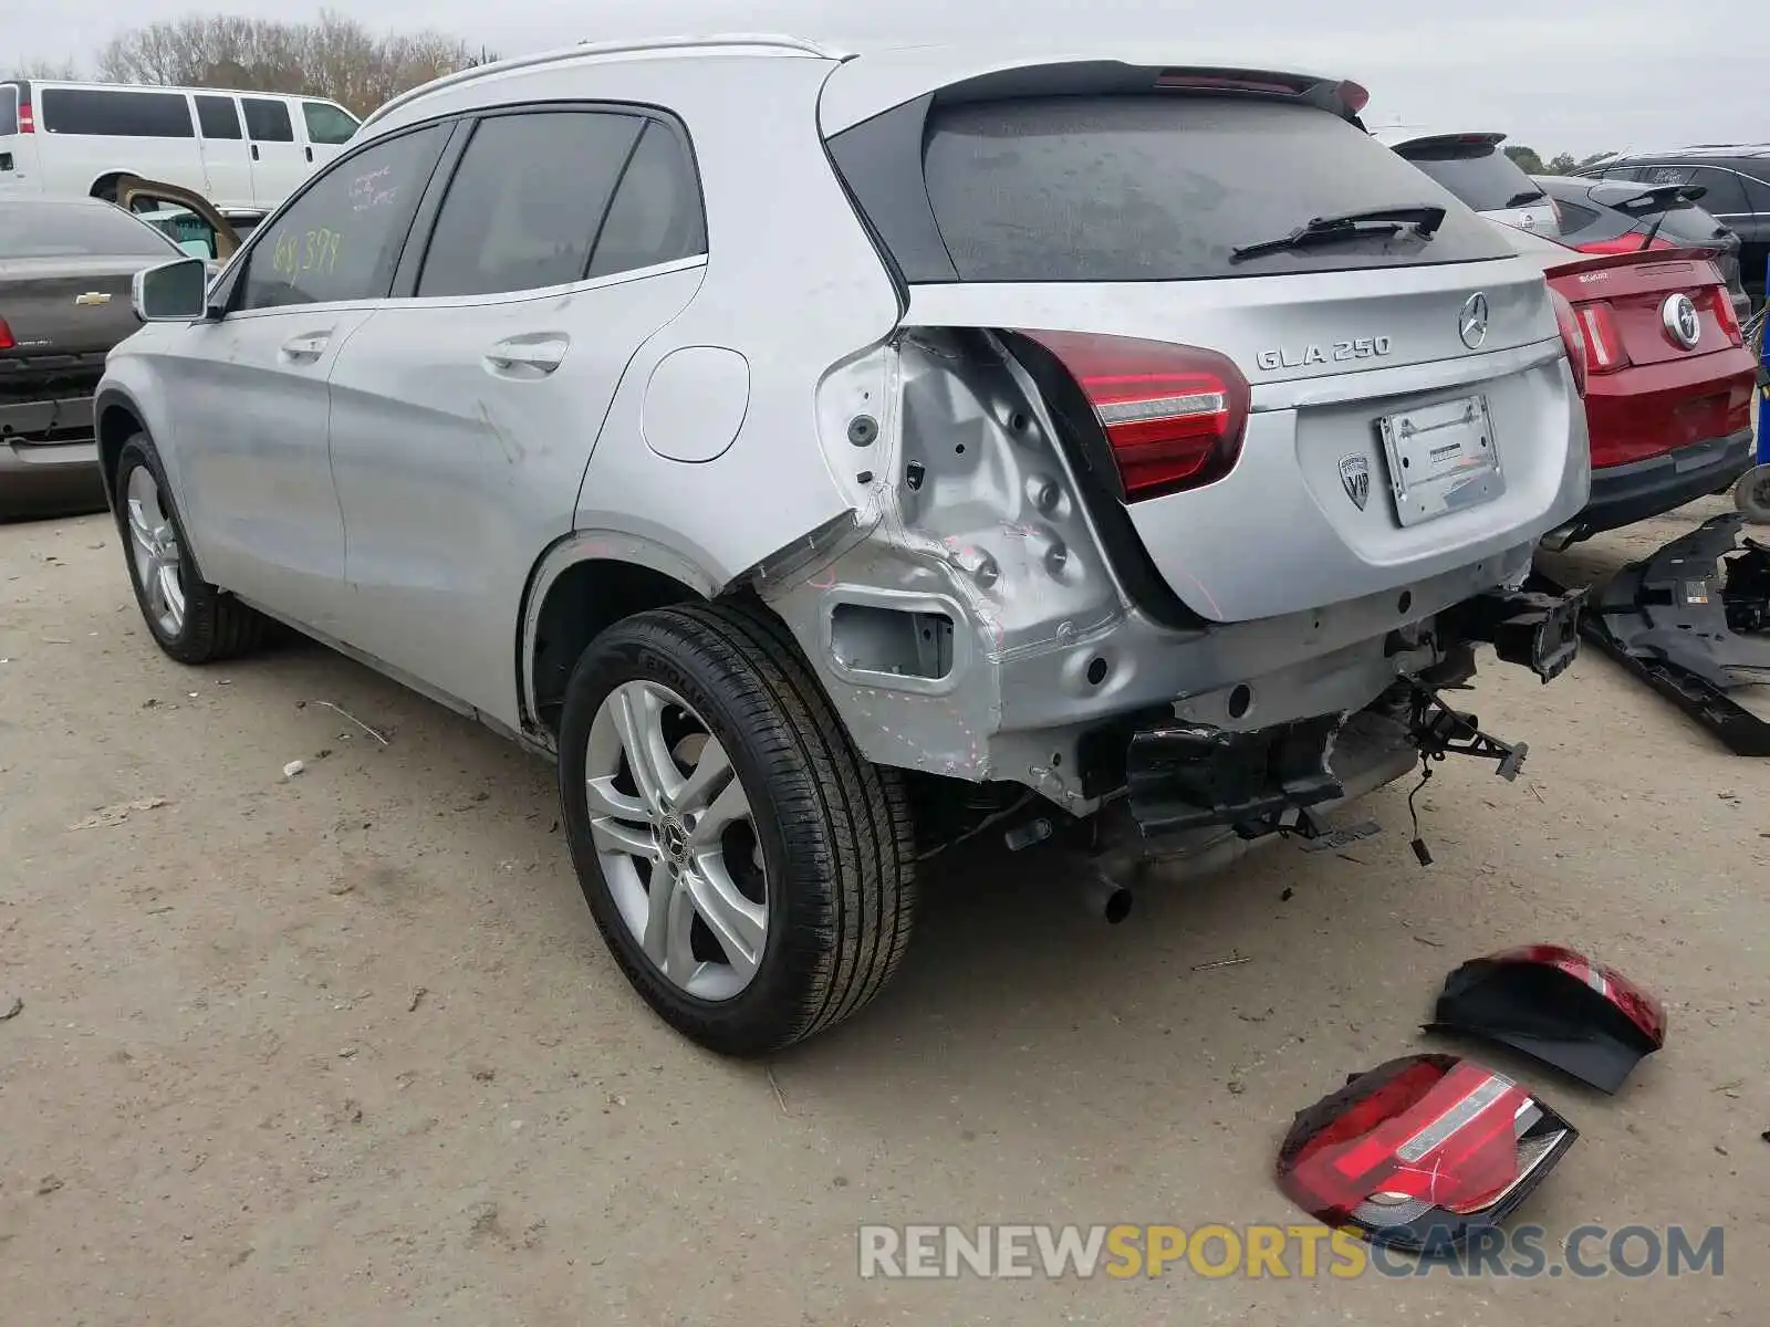
[[[304,0],[19,0],[0,65],[76,60],[117,32],[191,11],[301,19]],[[373,30],[437,28],[501,55],[666,32],[791,32],[874,44],[993,41],[1080,48],[1149,39],[1175,62],[1235,53],[1354,78],[1366,122],[1504,133],[1512,143],[1600,150],[1770,140],[1765,0],[333,0]],[[1752,12],[1756,11],[1756,14]]]

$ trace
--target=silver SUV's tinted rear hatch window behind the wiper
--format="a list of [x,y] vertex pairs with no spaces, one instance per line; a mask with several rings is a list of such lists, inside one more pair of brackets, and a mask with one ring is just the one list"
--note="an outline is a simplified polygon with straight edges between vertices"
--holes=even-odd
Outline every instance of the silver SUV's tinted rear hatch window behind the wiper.
[[[878,119],[901,113],[922,108]],[[1510,251],[1405,161],[1313,106],[1069,96],[935,103],[926,117],[920,161],[881,149],[890,134],[874,122],[830,140],[910,281],[1189,281]],[[904,198],[919,196],[931,212],[920,230],[904,223]],[[1409,203],[1446,207],[1432,241],[1379,234],[1234,257],[1312,218]]]

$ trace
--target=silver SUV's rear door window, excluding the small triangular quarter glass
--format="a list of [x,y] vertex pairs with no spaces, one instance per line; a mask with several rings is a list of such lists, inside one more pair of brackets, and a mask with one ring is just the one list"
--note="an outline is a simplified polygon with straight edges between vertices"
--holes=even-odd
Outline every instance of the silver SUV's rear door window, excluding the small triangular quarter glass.
[[489,295],[582,281],[646,120],[533,111],[483,120],[437,214],[418,295]]

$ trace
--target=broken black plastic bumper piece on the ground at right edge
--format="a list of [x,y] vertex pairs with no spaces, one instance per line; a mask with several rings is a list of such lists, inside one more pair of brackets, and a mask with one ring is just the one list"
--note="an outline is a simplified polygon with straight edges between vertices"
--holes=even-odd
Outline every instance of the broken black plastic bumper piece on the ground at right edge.
[[1735,756],[1770,756],[1770,724],[1728,695],[1770,683],[1770,547],[1742,547],[1743,524],[1742,511],[1715,517],[1623,566],[1584,635]]

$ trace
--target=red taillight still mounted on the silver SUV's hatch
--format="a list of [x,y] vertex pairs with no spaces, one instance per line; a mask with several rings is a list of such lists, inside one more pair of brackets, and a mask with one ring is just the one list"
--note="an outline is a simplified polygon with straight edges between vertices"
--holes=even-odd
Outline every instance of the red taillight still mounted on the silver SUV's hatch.
[[1241,456],[1248,379],[1216,350],[1133,336],[1027,331],[1081,387],[1124,501],[1198,488]]

